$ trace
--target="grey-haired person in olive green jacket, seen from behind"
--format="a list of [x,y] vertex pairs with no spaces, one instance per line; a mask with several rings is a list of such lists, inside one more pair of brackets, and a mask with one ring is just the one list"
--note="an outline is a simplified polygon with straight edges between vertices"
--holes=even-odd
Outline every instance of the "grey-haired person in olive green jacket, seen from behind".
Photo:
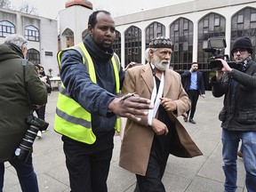
[[32,156],[23,162],[14,155],[29,127],[28,96],[32,105],[47,102],[46,87],[34,65],[26,60],[28,64],[22,66],[27,46],[26,38],[17,34],[7,36],[4,44],[0,44],[0,191],[4,188],[4,162],[7,161],[16,169],[22,191],[38,191]]

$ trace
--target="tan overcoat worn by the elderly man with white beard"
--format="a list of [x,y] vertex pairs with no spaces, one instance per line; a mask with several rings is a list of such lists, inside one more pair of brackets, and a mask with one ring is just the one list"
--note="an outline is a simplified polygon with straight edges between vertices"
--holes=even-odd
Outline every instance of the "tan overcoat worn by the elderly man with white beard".
[[[153,87],[154,80],[152,70],[149,64],[142,65],[127,70],[124,78],[122,94],[136,92],[140,97],[150,99]],[[177,104],[176,116],[180,116],[190,108],[190,100],[188,100],[188,95],[182,87],[180,75],[171,69],[165,71],[163,97],[172,99]],[[177,122],[177,124],[175,123],[176,129],[178,129],[180,125],[182,126],[172,113],[169,115],[172,117],[173,122]],[[145,125],[148,122],[148,116],[141,116],[141,118],[142,120],[140,124],[137,124],[130,119],[127,120],[124,129],[124,140],[122,141],[119,165],[130,172],[145,175],[155,132],[151,127]],[[181,128],[183,128],[180,129],[182,131],[181,135],[183,135],[183,131],[185,129],[183,126]],[[174,134],[177,134],[177,132],[174,132]],[[186,138],[184,140],[187,142],[187,137],[188,140],[190,138],[186,130],[185,137]],[[188,151],[186,151],[183,150],[183,147],[181,147],[183,151],[180,151],[180,146],[178,145],[180,145],[180,142],[183,142],[182,140],[178,140],[179,143],[177,144],[177,148],[176,144],[173,143],[172,152],[174,156],[192,157],[202,155],[201,151],[196,147],[196,144],[191,141],[191,139],[189,140],[189,148],[191,147],[190,144],[192,142],[192,149],[195,147],[196,153],[193,154],[192,151],[192,154],[189,154],[189,148]]]

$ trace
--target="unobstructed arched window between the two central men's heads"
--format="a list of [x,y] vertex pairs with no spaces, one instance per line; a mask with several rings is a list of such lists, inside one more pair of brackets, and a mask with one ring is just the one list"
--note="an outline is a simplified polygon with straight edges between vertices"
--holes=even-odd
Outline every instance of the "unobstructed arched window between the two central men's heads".
[[141,30],[135,26],[124,32],[124,67],[130,62],[141,62]]

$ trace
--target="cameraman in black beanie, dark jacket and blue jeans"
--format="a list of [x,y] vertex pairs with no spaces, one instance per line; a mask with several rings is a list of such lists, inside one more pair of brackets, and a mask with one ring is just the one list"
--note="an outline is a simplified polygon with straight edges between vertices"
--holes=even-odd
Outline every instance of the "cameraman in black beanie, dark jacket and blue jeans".
[[224,107],[220,111],[222,122],[222,158],[226,176],[224,191],[236,191],[236,159],[239,141],[242,140],[246,188],[256,191],[256,63],[252,60],[252,42],[248,37],[240,37],[234,42],[231,54],[236,64],[242,68],[228,66],[216,70],[212,77],[214,97],[224,95]]

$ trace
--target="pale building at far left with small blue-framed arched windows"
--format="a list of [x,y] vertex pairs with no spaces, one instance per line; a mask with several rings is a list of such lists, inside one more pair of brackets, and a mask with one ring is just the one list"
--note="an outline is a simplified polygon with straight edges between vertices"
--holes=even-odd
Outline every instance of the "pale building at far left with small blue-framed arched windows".
[[16,33],[28,39],[28,60],[40,63],[46,75],[57,76],[57,20],[0,8],[0,44],[5,36]]

